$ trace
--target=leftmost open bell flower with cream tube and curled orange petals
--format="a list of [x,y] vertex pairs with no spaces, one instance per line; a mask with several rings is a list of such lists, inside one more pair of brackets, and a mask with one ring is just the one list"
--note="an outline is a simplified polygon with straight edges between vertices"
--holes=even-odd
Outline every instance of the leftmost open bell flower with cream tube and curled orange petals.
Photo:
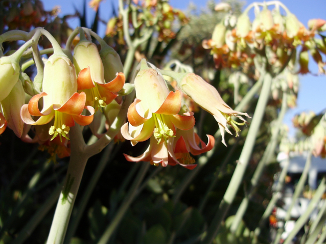
[[[57,135],[67,138],[69,127],[75,122],[88,125],[93,120],[94,109],[85,106],[85,93],[77,93],[76,71],[72,62],[66,57],[52,55],[44,65],[42,84],[43,92],[31,98],[28,104],[21,107],[20,115],[26,124],[42,125],[54,118],[49,134],[53,140]],[[38,101],[43,97],[43,109],[39,111]],[[90,112],[89,116],[81,115],[83,110]],[[31,116],[39,116],[34,121]]]

